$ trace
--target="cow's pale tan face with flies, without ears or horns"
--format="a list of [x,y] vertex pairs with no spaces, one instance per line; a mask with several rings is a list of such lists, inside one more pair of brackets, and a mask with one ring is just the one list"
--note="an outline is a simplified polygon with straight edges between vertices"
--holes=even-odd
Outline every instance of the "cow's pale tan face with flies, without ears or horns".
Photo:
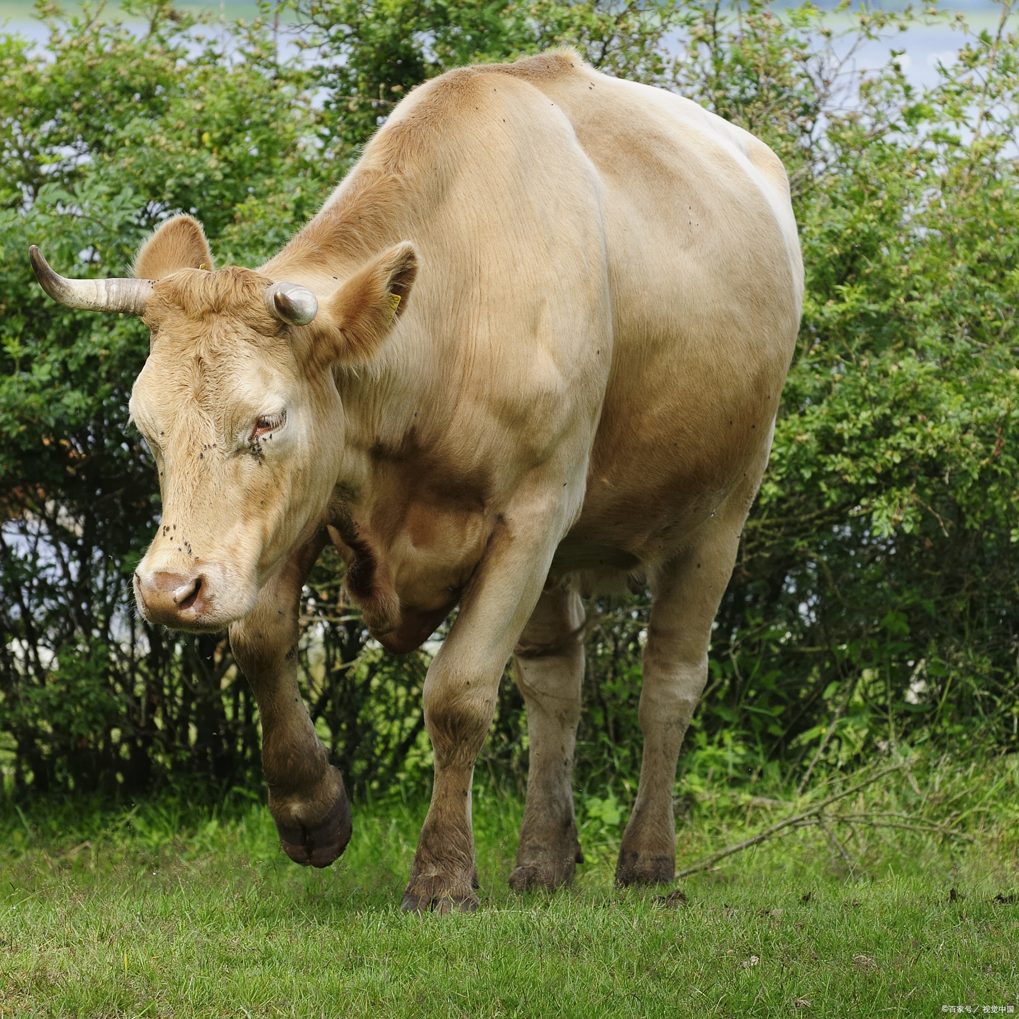
[[[159,471],[159,531],[135,574],[152,622],[222,630],[328,499],[342,448],[328,366],[274,321],[247,270],[176,272],[146,309],[131,418]],[[330,476],[331,474],[331,476]]]

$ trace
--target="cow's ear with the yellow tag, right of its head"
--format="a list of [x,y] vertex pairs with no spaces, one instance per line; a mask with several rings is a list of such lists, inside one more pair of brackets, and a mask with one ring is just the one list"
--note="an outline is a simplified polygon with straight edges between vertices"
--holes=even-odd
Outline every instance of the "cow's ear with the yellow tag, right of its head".
[[418,257],[401,240],[359,269],[326,302],[327,340],[335,361],[367,361],[375,356],[407,309],[418,274]]

